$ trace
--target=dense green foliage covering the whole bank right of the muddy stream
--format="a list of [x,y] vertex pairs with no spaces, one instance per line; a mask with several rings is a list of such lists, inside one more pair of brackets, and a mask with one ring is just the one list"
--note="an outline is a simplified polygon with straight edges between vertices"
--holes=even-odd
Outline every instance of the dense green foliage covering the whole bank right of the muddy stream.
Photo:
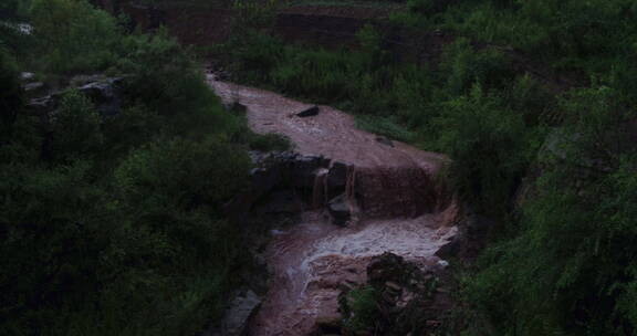
[[499,222],[462,283],[463,334],[635,335],[637,7],[442,2],[410,0],[390,20],[415,40],[452,36],[438,62],[404,62],[367,27],[354,51],[246,33],[229,63],[452,158],[459,195]]

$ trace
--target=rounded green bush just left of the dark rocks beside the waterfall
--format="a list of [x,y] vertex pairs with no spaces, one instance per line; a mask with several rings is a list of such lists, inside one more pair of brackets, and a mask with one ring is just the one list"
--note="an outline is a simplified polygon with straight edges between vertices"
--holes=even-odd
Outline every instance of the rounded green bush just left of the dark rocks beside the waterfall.
[[145,209],[157,210],[165,202],[185,209],[219,206],[246,182],[247,154],[222,138],[159,141],[133,151],[115,171],[125,203],[137,207],[148,202]]

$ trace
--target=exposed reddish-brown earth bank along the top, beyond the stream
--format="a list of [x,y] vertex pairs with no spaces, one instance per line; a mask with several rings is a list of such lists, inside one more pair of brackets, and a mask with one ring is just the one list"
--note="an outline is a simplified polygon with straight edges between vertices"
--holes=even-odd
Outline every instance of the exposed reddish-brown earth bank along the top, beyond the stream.
[[[100,0],[104,8],[113,8],[111,0]],[[385,46],[396,57],[411,62],[437,61],[442,45],[453,36],[442,32],[427,32],[411,36],[382,23],[399,6],[388,8],[303,6],[282,10],[273,32],[291,43],[309,43],[327,49],[356,48],[356,33],[366,23],[375,22],[387,33]],[[231,32],[233,11],[218,9],[153,9],[128,2],[119,6],[133,21],[144,29],[166,25],[185,44],[210,45],[224,42]]]

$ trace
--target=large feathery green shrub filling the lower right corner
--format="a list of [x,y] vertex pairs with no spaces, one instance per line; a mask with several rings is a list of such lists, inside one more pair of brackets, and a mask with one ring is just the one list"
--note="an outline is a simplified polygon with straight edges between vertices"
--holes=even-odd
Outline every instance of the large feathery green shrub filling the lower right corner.
[[637,160],[618,146],[631,114],[615,102],[608,87],[563,98],[563,144],[543,159],[515,238],[490,249],[469,282],[467,295],[503,335],[633,334],[635,251],[618,246],[637,234]]

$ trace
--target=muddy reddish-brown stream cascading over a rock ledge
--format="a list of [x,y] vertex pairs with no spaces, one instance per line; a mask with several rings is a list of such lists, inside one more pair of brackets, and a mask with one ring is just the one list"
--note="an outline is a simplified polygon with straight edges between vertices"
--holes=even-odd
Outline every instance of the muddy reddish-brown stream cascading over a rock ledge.
[[301,155],[347,167],[353,216],[346,227],[318,209],[272,232],[265,259],[273,276],[250,335],[311,335],[322,322],[337,319],[340,286],[364,283],[374,255],[393,252],[422,266],[439,262],[434,254],[456,233],[456,204],[436,182],[443,156],[359,130],[352,116],[328,106],[300,117],[307,104],[213,75],[209,81],[226,103],[247,107],[254,132],[285,135]]

